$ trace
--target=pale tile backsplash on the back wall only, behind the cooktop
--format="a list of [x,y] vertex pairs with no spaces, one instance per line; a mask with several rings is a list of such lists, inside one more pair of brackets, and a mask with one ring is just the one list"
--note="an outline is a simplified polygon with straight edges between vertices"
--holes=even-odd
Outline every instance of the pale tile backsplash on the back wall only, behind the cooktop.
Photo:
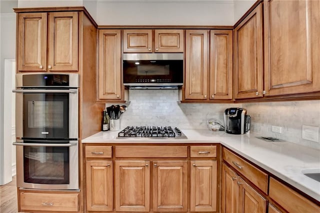
[[[120,127],[127,125],[171,125],[179,128],[207,129],[207,120],[223,123],[223,111],[241,104],[177,103],[177,89],[129,90],[130,104],[120,117]],[[110,105],[107,103],[106,106]]]

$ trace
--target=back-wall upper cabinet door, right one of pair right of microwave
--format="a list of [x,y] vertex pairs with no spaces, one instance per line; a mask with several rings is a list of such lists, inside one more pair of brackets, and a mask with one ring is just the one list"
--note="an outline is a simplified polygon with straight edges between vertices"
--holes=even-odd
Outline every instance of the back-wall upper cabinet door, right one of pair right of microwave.
[[210,31],[209,99],[232,99],[232,30]]

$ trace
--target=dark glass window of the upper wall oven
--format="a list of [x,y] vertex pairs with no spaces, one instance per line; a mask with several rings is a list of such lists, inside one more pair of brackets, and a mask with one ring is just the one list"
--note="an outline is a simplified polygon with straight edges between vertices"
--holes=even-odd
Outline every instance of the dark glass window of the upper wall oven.
[[23,138],[68,138],[68,93],[23,94]]

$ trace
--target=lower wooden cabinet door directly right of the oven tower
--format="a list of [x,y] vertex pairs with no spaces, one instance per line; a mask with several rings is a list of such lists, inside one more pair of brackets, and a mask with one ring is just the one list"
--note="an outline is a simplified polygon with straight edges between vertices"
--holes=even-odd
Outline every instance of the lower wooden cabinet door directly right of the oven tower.
[[112,211],[112,160],[86,161],[86,209]]

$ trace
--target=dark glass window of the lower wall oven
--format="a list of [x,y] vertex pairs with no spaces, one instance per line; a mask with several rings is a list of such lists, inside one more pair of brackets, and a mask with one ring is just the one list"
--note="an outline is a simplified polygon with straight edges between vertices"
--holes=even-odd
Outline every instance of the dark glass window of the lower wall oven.
[[69,147],[24,146],[24,182],[69,184]]

